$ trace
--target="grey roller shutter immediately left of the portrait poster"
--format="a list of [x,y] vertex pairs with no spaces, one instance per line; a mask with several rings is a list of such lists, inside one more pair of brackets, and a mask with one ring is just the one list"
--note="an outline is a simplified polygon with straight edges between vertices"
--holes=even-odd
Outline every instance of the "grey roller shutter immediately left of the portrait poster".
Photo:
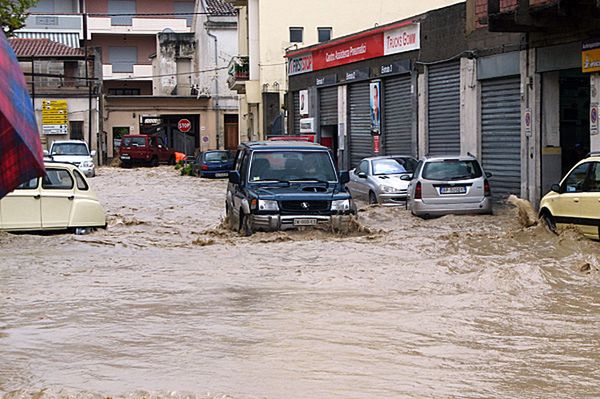
[[350,108],[350,167],[358,166],[360,160],[373,154],[371,137],[371,108],[369,104],[369,82],[349,86]]

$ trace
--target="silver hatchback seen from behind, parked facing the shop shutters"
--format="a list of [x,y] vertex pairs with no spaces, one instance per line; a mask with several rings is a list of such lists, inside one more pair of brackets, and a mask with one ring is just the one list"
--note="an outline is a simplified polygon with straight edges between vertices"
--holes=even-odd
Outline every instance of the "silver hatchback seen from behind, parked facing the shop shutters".
[[426,157],[419,161],[408,187],[407,208],[425,218],[491,214],[491,176],[471,155]]

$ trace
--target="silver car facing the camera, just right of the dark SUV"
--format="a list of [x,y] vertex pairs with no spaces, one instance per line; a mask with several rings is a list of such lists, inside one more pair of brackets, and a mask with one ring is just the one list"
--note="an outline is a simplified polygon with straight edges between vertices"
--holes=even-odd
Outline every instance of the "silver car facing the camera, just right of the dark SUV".
[[411,156],[365,158],[350,171],[346,186],[353,198],[363,198],[369,204],[404,204],[416,166],[417,160]]

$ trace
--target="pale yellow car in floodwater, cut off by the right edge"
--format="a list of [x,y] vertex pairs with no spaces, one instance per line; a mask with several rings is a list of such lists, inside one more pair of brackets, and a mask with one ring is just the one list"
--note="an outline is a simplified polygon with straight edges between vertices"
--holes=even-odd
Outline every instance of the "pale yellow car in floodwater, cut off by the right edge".
[[591,154],[569,171],[540,202],[540,218],[551,231],[574,225],[600,239],[600,153]]

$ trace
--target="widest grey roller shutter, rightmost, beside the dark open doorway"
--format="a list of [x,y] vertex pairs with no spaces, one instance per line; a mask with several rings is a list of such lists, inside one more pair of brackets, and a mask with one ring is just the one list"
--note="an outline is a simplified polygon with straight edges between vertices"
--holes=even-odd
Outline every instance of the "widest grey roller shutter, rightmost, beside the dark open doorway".
[[520,77],[481,83],[481,160],[496,198],[521,194]]

